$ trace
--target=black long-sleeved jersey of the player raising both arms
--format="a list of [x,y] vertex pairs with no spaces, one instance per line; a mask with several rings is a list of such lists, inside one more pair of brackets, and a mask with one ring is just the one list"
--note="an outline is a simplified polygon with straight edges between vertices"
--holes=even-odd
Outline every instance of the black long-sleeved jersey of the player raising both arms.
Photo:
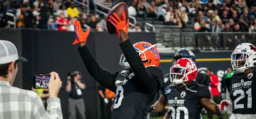
[[90,75],[115,93],[112,118],[146,118],[157,91],[163,85],[163,74],[156,67],[144,67],[130,40],[121,43],[120,47],[131,69],[116,73],[100,67],[86,45],[78,50]]

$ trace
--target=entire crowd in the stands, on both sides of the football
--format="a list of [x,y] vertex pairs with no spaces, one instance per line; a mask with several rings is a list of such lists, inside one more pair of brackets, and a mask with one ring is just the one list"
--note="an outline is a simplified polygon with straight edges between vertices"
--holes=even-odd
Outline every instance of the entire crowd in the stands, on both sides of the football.
[[[112,6],[119,2],[122,1],[113,0]],[[197,32],[256,31],[253,0],[132,0],[129,3],[129,15],[138,21],[131,32],[143,31],[145,22]],[[73,21],[78,19],[83,28],[106,31],[106,16],[87,15],[84,7],[71,0],[0,1],[0,27],[13,20],[6,12],[16,15],[17,27],[73,31]]]

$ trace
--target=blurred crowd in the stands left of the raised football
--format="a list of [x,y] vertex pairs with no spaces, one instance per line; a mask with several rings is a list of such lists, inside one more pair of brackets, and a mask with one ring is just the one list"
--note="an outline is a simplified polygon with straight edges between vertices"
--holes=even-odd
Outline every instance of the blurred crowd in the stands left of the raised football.
[[16,15],[17,27],[73,31],[73,23],[77,19],[84,28],[106,30],[105,19],[99,20],[95,15],[87,16],[86,9],[71,0],[0,1],[0,27],[7,27],[8,20],[13,22],[12,17],[5,15],[6,12]]

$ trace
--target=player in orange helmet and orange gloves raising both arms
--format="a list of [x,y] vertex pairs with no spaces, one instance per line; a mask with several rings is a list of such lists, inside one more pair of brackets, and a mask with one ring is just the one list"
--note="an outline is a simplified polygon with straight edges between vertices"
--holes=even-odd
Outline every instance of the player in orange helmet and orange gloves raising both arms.
[[156,92],[163,85],[163,74],[158,69],[160,55],[155,45],[145,41],[131,44],[127,36],[129,20],[126,22],[125,17],[124,12],[122,19],[113,13],[111,19],[108,19],[121,40],[120,47],[124,54],[121,56],[120,65],[124,66],[123,71],[112,73],[99,66],[86,45],[90,29],[84,33],[77,21],[77,38],[73,44],[79,43],[78,51],[90,75],[115,93],[112,118],[143,119],[147,116]]

